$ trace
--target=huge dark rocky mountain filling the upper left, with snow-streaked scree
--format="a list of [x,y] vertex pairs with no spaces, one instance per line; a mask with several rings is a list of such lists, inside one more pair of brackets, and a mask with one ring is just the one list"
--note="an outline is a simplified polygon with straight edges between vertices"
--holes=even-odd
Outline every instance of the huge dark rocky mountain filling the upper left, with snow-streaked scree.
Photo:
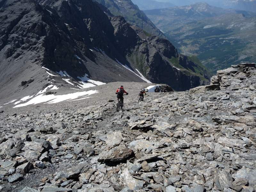
[[[135,32],[120,16],[108,18],[91,0],[1,2],[2,97],[33,95],[53,85],[79,89],[114,81],[166,81],[185,90],[209,79],[204,70],[197,75],[176,69],[168,58],[184,57],[172,44]],[[198,68],[186,58],[182,62]]]

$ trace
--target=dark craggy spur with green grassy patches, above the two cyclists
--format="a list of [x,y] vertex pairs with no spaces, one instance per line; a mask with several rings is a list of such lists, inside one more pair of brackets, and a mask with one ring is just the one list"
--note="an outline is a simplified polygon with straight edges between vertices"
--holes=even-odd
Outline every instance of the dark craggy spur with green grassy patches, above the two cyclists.
[[[208,71],[192,59],[180,55],[168,40],[148,36],[140,28],[133,27],[132,30],[120,16],[112,18],[111,22],[115,28],[115,36],[123,39],[118,42],[120,51],[129,63],[149,80],[154,77],[154,83],[172,84],[175,90],[180,90],[177,83],[182,84],[186,89],[194,86],[195,82],[207,84],[210,76]],[[131,38],[132,36],[139,36],[139,41]],[[170,73],[175,75],[170,76]]]

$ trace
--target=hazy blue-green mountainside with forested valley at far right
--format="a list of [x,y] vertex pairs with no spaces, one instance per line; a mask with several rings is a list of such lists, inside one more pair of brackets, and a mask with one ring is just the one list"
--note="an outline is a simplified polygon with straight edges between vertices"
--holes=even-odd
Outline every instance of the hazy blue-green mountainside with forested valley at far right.
[[144,11],[185,55],[196,55],[212,72],[256,58],[256,14],[205,3]]

